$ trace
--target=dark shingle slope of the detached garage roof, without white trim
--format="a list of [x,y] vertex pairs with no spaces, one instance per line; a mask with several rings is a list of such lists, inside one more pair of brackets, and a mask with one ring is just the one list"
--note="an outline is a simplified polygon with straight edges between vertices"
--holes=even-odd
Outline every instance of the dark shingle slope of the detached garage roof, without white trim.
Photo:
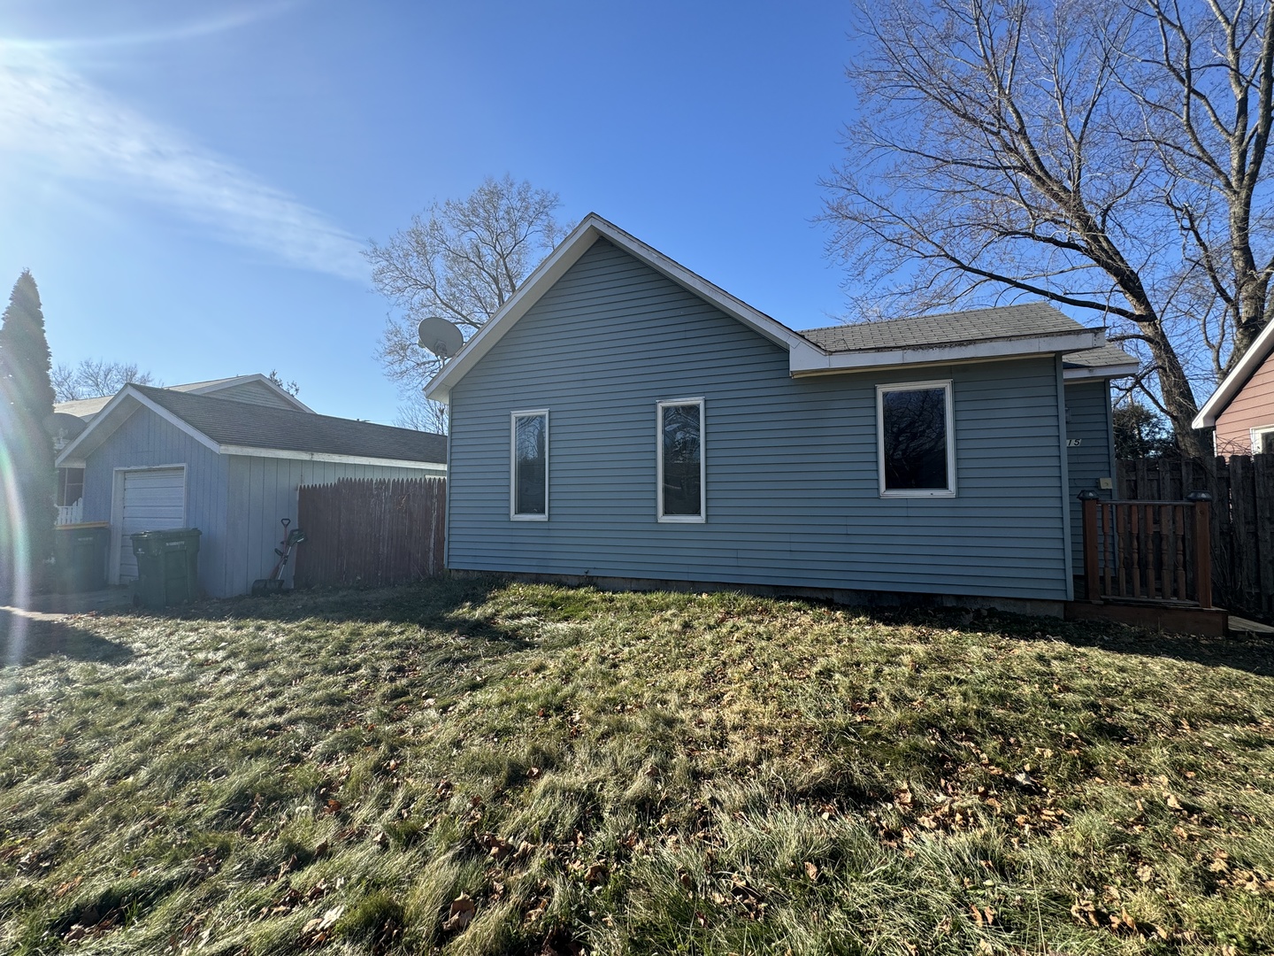
[[447,460],[446,435],[255,405],[211,395],[190,395],[148,385],[132,387],[219,445],[440,464]]

